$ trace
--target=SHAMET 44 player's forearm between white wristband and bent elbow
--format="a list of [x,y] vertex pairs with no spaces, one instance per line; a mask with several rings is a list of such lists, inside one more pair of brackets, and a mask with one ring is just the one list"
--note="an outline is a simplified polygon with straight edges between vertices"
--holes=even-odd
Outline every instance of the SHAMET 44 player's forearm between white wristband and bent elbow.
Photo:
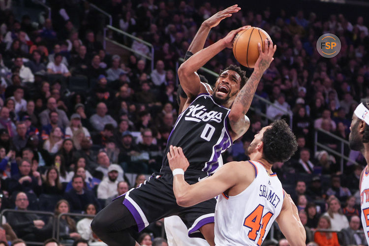
[[184,180],[183,175],[175,175],[173,177],[173,192],[177,200],[177,204],[181,207],[189,207],[193,204],[193,195],[191,194],[190,184]]

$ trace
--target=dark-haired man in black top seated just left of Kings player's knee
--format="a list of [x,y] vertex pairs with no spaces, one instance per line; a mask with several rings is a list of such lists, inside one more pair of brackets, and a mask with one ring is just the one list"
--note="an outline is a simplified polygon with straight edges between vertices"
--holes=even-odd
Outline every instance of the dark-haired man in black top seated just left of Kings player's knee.
[[88,204],[92,203],[99,210],[99,203],[92,191],[83,188],[82,176],[74,175],[72,178],[73,189],[64,194],[65,200],[69,202],[72,213],[82,213]]

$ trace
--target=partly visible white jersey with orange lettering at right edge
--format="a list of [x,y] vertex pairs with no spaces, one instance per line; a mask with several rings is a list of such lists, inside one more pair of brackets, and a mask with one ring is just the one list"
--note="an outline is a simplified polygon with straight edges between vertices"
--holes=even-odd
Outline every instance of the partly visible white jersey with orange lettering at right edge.
[[369,243],[369,172],[364,168],[360,181],[360,205],[361,222],[365,232],[365,237]]

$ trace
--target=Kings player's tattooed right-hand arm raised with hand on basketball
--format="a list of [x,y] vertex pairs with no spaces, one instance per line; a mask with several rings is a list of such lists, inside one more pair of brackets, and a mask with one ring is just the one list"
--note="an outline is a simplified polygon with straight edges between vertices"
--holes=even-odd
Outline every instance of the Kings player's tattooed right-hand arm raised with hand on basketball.
[[[233,139],[239,138],[248,129],[250,122],[245,115],[250,108],[252,98],[256,92],[256,88],[259,84],[261,76],[265,70],[267,70],[270,63],[274,60],[273,56],[276,52],[277,46],[273,45],[271,40],[268,41],[266,39],[264,42],[264,51],[261,49],[261,44],[258,44],[260,55],[255,63],[254,71],[247,80],[246,85],[237,94],[236,99],[231,107],[231,112],[229,113],[229,123],[233,132]],[[268,42],[270,42],[269,45]]]

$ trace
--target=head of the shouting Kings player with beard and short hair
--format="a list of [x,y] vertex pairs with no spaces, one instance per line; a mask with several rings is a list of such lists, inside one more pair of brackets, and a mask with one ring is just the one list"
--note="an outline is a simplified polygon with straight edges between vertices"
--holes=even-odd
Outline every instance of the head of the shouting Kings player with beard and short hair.
[[239,66],[230,65],[221,71],[213,92],[215,102],[220,105],[232,104],[247,79],[246,72]]

